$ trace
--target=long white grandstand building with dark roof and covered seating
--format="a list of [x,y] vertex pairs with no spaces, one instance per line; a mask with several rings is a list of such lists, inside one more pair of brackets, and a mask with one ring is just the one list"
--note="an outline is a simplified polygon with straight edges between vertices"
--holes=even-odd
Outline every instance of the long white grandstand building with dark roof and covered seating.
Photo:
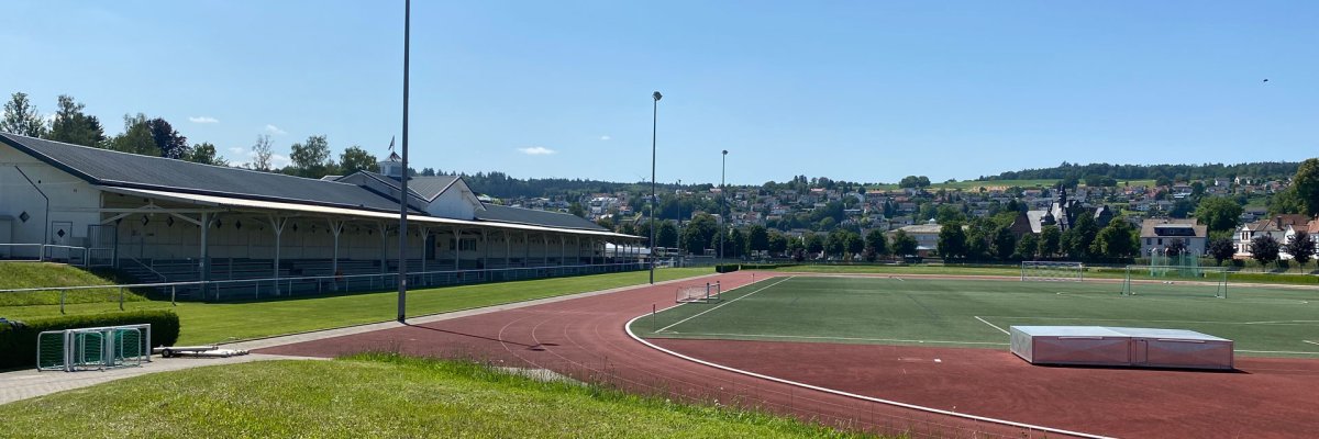
[[[380,166],[318,181],[0,133],[0,258],[149,281],[388,273],[404,169],[397,156]],[[406,200],[410,272],[641,268],[638,236],[487,204],[458,177],[413,177]]]

